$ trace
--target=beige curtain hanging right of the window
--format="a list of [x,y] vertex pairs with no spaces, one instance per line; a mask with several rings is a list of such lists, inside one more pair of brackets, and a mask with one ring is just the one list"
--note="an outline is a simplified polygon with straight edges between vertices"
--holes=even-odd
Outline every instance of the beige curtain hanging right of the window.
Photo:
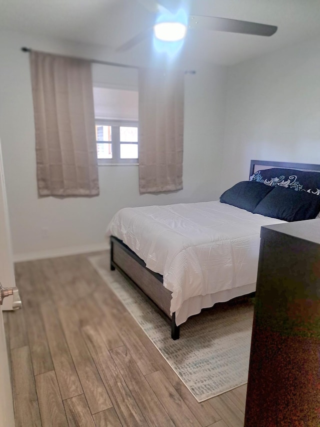
[[139,191],[182,188],[184,73],[139,70]]

